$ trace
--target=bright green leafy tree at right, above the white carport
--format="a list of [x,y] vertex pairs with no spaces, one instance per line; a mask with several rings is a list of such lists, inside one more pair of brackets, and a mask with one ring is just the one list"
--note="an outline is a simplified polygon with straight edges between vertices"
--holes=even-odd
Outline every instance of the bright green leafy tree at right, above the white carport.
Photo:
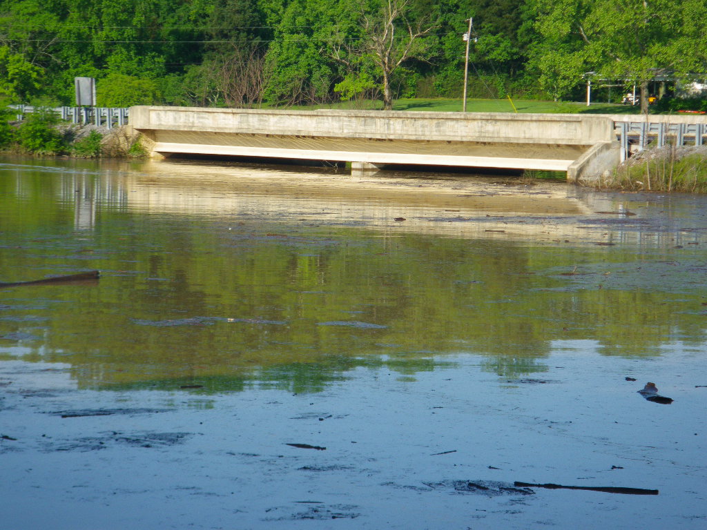
[[595,71],[641,87],[648,112],[648,82],[656,69],[688,73],[704,57],[707,6],[702,0],[537,0],[533,66],[556,90]]

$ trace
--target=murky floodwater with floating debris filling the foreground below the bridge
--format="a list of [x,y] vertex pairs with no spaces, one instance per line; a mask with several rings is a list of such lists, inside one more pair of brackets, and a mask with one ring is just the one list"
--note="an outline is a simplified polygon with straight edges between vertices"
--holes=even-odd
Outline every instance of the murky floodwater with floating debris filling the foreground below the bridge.
[[3,527],[703,529],[706,246],[701,196],[0,160],[0,282],[100,271],[0,285]]

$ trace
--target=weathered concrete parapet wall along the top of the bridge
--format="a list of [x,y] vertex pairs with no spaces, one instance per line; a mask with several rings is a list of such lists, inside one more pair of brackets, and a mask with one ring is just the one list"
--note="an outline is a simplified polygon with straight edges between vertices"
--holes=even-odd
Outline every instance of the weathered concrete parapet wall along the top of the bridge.
[[131,107],[139,131],[180,130],[334,138],[546,143],[612,140],[612,119],[576,114],[380,112]]

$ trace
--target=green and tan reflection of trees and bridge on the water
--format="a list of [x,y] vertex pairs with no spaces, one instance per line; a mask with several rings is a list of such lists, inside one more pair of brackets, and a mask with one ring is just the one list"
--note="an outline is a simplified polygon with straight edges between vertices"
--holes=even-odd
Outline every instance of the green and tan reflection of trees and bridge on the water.
[[0,166],[0,281],[103,278],[1,290],[0,356],[69,363],[82,387],[319,391],[351,370],[414,377],[458,355],[512,379],[546,371],[562,341],[644,356],[703,341],[694,198],[54,164]]

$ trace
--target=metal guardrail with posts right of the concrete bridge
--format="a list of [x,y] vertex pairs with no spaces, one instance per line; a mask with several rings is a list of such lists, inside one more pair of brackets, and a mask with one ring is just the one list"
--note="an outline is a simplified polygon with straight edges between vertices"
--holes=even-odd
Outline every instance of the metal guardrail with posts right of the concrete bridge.
[[702,146],[707,136],[707,124],[614,122],[614,130],[621,142],[621,162],[629,158],[631,146],[643,151],[649,145],[663,147],[669,140],[674,146],[686,146],[688,139]]

